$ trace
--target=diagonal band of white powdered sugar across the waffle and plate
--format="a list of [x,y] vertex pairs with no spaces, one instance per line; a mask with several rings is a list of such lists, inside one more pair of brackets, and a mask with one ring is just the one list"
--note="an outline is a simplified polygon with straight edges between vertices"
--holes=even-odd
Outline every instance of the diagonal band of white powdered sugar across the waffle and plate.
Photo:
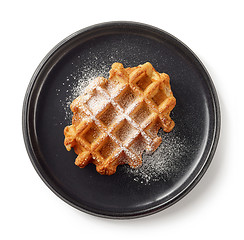
[[[148,123],[144,122],[143,124],[138,124],[130,117],[130,113],[133,111],[133,109],[135,109],[136,106],[138,106],[138,104],[140,104],[141,100],[134,99],[132,93],[126,98],[122,105],[119,104],[115,98],[123,91],[123,87],[118,87],[118,85],[113,85],[110,83],[108,84],[106,91],[104,91],[104,89],[100,86],[99,81],[94,81],[94,79],[98,76],[107,77],[107,74],[108,67],[104,67],[101,71],[89,70],[87,73],[83,73],[82,78],[79,78],[77,81],[78,84],[70,90],[71,94],[70,97],[67,98],[66,107],[69,109],[70,103],[76,97],[81,94],[84,96],[84,93],[86,93],[87,96],[83,98],[87,106],[85,112],[98,126],[100,126],[101,123],[97,119],[97,115],[108,104],[112,104],[112,106],[114,106],[115,109],[120,112],[119,117],[116,118],[116,122],[126,120],[132,127],[131,134],[129,134],[129,141],[123,142],[123,144],[121,144],[121,141],[118,141],[116,137],[114,137],[114,134],[112,134],[112,129],[108,131],[108,136],[120,147],[115,156],[119,156],[122,152],[124,152],[131,159],[137,161],[138,157],[133,152],[140,155],[144,149],[150,150],[150,145],[153,144],[153,140],[143,130]],[[90,84],[91,82],[92,84]],[[72,117],[70,113],[71,112],[69,111],[68,119],[71,119]],[[143,129],[140,125],[144,125]],[[123,131],[130,131],[130,129],[125,128]],[[163,135],[160,134],[160,136],[163,138],[163,143],[153,154],[143,154],[141,167],[130,168],[125,166],[126,173],[128,176],[132,177],[134,181],[142,184],[150,184],[153,181],[164,180],[166,179],[166,176],[169,176],[172,172],[174,172],[174,162],[180,159],[182,152],[186,152],[182,151],[185,150],[184,148],[186,144],[182,139],[175,137],[171,133],[170,137],[167,135],[168,134],[165,133],[163,133]],[[142,137],[144,141],[135,141],[135,138],[138,136]],[[135,144],[130,146],[131,142],[134,142]]]

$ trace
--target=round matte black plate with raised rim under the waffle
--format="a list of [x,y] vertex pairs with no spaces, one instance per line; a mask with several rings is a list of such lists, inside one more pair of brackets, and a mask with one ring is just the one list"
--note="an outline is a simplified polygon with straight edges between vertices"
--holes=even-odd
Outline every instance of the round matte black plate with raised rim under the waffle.
[[[63,145],[63,128],[71,123],[66,105],[77,79],[107,72],[116,61],[125,67],[149,61],[171,77],[176,126],[160,132],[164,141],[150,157],[164,158],[165,169],[150,181],[126,166],[112,176],[99,175],[92,164],[79,169]],[[219,131],[217,94],[196,55],[172,35],[134,22],[98,24],[64,39],[38,66],[23,105],[26,148],[43,181],[73,207],[109,218],[149,215],[181,199],[208,168]]]

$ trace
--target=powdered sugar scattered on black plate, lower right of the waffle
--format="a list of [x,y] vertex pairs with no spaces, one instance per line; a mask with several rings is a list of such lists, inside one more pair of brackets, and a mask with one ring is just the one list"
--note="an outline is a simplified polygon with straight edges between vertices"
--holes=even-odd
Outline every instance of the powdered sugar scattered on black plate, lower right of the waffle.
[[143,154],[142,166],[138,168],[124,166],[125,172],[132,176],[134,181],[142,184],[167,181],[181,171],[184,164],[181,160],[189,152],[186,139],[176,136],[174,132],[163,133],[162,130],[160,132],[161,145],[154,153]]

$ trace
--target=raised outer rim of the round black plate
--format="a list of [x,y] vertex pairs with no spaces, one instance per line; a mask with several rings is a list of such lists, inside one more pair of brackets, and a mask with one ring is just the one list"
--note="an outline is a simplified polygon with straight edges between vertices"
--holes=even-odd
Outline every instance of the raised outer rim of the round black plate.
[[[208,157],[206,158],[205,164],[203,165],[202,169],[198,172],[198,174],[196,174],[195,178],[178,195],[176,195],[174,198],[170,199],[169,201],[164,202],[163,205],[161,204],[161,205],[159,205],[157,207],[153,207],[151,209],[147,209],[147,210],[143,210],[143,211],[136,211],[136,212],[131,212],[131,213],[126,213],[126,214],[117,214],[117,213],[113,213],[113,214],[107,213],[106,214],[106,213],[100,213],[100,212],[96,212],[96,211],[91,211],[91,210],[87,210],[87,209],[84,209],[84,208],[80,208],[75,203],[73,203],[72,201],[68,200],[65,196],[61,195],[55,189],[55,187],[52,185],[52,183],[49,182],[46,173],[39,166],[38,158],[35,155],[35,153],[34,153],[34,151],[32,149],[32,146],[31,146],[31,141],[30,141],[30,137],[29,137],[30,129],[29,129],[29,122],[28,122],[28,112],[30,110],[29,109],[30,96],[32,94],[33,86],[34,86],[34,84],[36,82],[37,76],[38,76],[40,70],[42,69],[42,67],[45,65],[45,63],[48,61],[48,59],[52,56],[52,54],[55,53],[55,51],[57,51],[63,44],[65,44],[66,42],[68,42],[70,39],[74,38],[77,35],[84,34],[85,32],[93,31],[94,29],[99,29],[99,28],[104,28],[104,27],[116,28],[118,26],[120,26],[120,27],[123,26],[125,28],[128,27],[128,26],[133,26],[133,27],[142,28],[142,29],[150,29],[150,30],[156,31],[156,32],[164,34],[164,35],[166,34],[166,35],[170,36],[171,38],[173,38],[174,40],[176,40],[179,45],[182,45],[184,48],[186,48],[194,56],[194,58],[198,61],[198,63],[202,66],[202,68],[204,69],[204,71],[206,72],[206,74],[208,76],[210,89],[211,89],[211,94],[212,94],[213,99],[214,99],[213,105],[214,105],[214,108],[215,108],[216,123],[215,123],[215,128],[214,128],[214,137],[212,139],[212,146],[210,147],[210,150],[209,150],[209,153],[208,153]],[[60,197],[63,201],[65,201],[69,205],[73,206],[74,208],[76,208],[78,210],[81,210],[83,212],[95,215],[95,216],[111,218],[111,219],[132,219],[132,218],[138,218],[138,217],[142,217],[142,216],[151,215],[153,213],[159,212],[161,210],[164,210],[164,209],[170,207],[174,203],[178,202],[185,195],[187,195],[196,186],[196,184],[200,181],[200,179],[203,177],[203,175],[205,174],[206,170],[208,169],[208,167],[209,167],[209,165],[210,165],[210,163],[211,163],[211,161],[213,159],[213,156],[214,156],[216,148],[217,148],[219,136],[220,136],[220,125],[221,125],[220,105],[219,105],[216,89],[214,87],[214,84],[212,82],[212,79],[211,79],[209,73],[207,72],[206,68],[204,67],[204,65],[202,64],[200,59],[196,56],[196,54],[188,46],[186,46],[183,42],[181,42],[179,39],[177,39],[173,35],[167,33],[166,31],[161,30],[159,28],[156,28],[154,26],[148,25],[148,24],[143,24],[143,23],[139,23],[139,22],[130,22],[130,21],[115,21],[115,22],[105,22],[105,23],[95,24],[95,25],[86,27],[84,29],[81,29],[81,30],[71,34],[70,36],[66,37],[61,42],[59,42],[43,58],[43,60],[40,62],[40,64],[38,65],[37,69],[35,70],[32,78],[31,78],[31,81],[30,81],[30,83],[29,83],[29,85],[27,87],[25,98],[24,98],[24,102],[23,102],[23,109],[22,109],[22,132],[23,132],[23,137],[24,137],[26,150],[27,150],[27,153],[29,155],[29,158],[31,160],[32,165],[34,166],[36,172],[41,177],[43,182],[58,197]]]

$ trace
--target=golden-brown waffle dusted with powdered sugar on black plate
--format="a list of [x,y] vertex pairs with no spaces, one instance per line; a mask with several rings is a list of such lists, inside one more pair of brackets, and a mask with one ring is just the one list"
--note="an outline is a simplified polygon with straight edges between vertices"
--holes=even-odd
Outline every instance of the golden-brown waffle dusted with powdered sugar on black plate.
[[158,130],[170,132],[175,125],[170,112],[176,100],[167,74],[149,62],[133,68],[114,63],[109,73],[71,103],[72,125],[64,129],[66,149],[78,155],[75,164],[93,163],[103,175],[122,164],[139,167],[144,150],[153,152],[161,144]]

